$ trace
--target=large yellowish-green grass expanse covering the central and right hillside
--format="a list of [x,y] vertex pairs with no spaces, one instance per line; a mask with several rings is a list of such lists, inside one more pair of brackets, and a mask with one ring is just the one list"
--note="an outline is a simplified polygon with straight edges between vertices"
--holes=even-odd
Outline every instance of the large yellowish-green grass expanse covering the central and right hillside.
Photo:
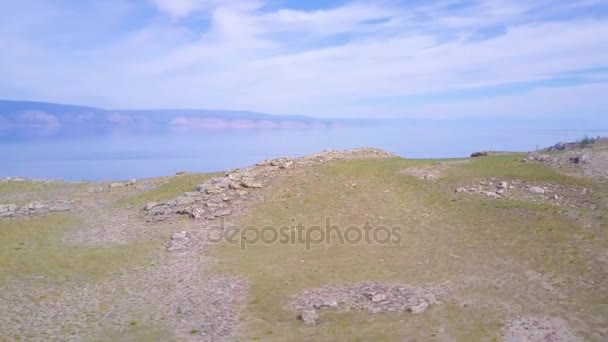
[[[219,272],[251,279],[239,331],[243,340],[494,340],[512,315],[570,319],[587,338],[597,337],[608,275],[597,253],[605,230],[585,231],[561,209],[523,201],[455,194],[464,182],[485,177],[585,185],[520,155],[472,160],[436,182],[400,170],[434,161],[404,159],[339,162],[286,179],[272,199],[243,217],[241,226],[306,225],[325,217],[339,224],[401,227],[400,245],[220,245]],[[355,184],[356,185],[353,185]],[[600,191],[601,189],[596,189]],[[286,309],[308,287],[361,281],[425,286],[444,284],[442,305],[422,315],[321,312],[304,326]],[[593,284],[593,285],[590,285]],[[601,318],[601,319],[598,319]],[[585,323],[583,323],[585,322]]]

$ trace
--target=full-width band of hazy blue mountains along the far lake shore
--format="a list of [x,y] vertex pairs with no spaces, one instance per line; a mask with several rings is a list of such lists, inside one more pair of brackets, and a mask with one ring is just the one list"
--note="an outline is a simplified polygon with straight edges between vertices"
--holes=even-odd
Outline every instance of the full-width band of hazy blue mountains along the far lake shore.
[[[379,115],[381,116],[381,115]],[[417,117],[331,119],[302,115],[271,115],[250,111],[210,109],[101,109],[47,102],[0,100],[0,139],[91,136],[109,133],[137,134],[162,132],[213,132],[276,129],[323,129],[357,126],[419,127],[431,133],[439,127],[450,129],[566,129],[594,135],[605,132],[605,119],[579,117]],[[599,133],[598,133],[599,134]],[[603,133],[602,133],[603,134]]]

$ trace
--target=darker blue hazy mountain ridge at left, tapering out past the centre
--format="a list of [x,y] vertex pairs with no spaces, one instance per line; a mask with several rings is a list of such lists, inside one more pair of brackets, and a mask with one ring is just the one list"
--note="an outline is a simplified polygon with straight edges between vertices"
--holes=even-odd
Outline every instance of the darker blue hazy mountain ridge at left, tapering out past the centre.
[[120,128],[154,130],[230,130],[323,128],[337,124],[307,116],[270,115],[208,109],[114,110],[33,101],[0,100],[0,133],[19,130],[80,133]]

